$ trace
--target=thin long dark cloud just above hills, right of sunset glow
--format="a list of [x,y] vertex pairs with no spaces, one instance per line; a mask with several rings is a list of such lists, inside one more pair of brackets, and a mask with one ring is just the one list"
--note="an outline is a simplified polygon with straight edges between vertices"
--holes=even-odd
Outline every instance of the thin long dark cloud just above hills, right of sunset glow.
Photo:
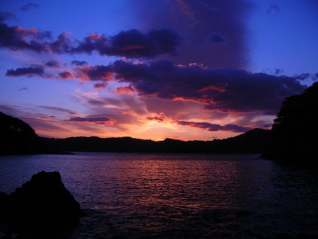
[[250,127],[242,127],[237,124],[225,124],[224,126],[222,126],[220,124],[211,124],[207,122],[188,122],[188,121],[179,121],[176,119],[173,122],[179,125],[196,127],[199,129],[206,129],[208,131],[230,131],[235,133],[244,133],[252,129]]

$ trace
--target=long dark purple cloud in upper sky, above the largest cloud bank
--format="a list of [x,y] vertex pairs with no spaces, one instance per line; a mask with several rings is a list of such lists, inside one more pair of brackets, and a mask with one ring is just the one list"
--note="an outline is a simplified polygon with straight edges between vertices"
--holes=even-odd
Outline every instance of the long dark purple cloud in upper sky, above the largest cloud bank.
[[139,30],[121,31],[107,39],[105,35],[90,34],[80,42],[62,33],[49,44],[56,53],[86,53],[94,51],[100,55],[122,56],[126,58],[154,58],[160,54],[177,54],[177,47],[183,38],[171,29],[151,30],[143,34]]

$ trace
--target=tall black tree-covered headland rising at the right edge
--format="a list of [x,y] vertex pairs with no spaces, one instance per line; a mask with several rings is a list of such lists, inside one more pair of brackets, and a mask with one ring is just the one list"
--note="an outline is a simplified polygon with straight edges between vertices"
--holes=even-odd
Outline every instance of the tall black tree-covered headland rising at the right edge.
[[271,130],[273,154],[294,161],[317,158],[318,82],[285,98]]

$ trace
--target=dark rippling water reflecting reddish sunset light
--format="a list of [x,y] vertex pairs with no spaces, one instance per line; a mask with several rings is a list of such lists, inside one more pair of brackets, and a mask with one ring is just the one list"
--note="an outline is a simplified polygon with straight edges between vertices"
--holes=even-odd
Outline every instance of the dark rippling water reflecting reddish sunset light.
[[0,191],[59,171],[86,212],[67,238],[275,238],[318,233],[318,174],[259,155],[1,156]]

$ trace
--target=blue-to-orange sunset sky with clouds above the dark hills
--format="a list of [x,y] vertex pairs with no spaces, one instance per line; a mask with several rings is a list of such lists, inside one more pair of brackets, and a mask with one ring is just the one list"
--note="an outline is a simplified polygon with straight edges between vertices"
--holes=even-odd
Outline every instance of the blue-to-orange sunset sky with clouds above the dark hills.
[[317,0],[0,0],[0,111],[39,136],[271,129],[318,80]]

